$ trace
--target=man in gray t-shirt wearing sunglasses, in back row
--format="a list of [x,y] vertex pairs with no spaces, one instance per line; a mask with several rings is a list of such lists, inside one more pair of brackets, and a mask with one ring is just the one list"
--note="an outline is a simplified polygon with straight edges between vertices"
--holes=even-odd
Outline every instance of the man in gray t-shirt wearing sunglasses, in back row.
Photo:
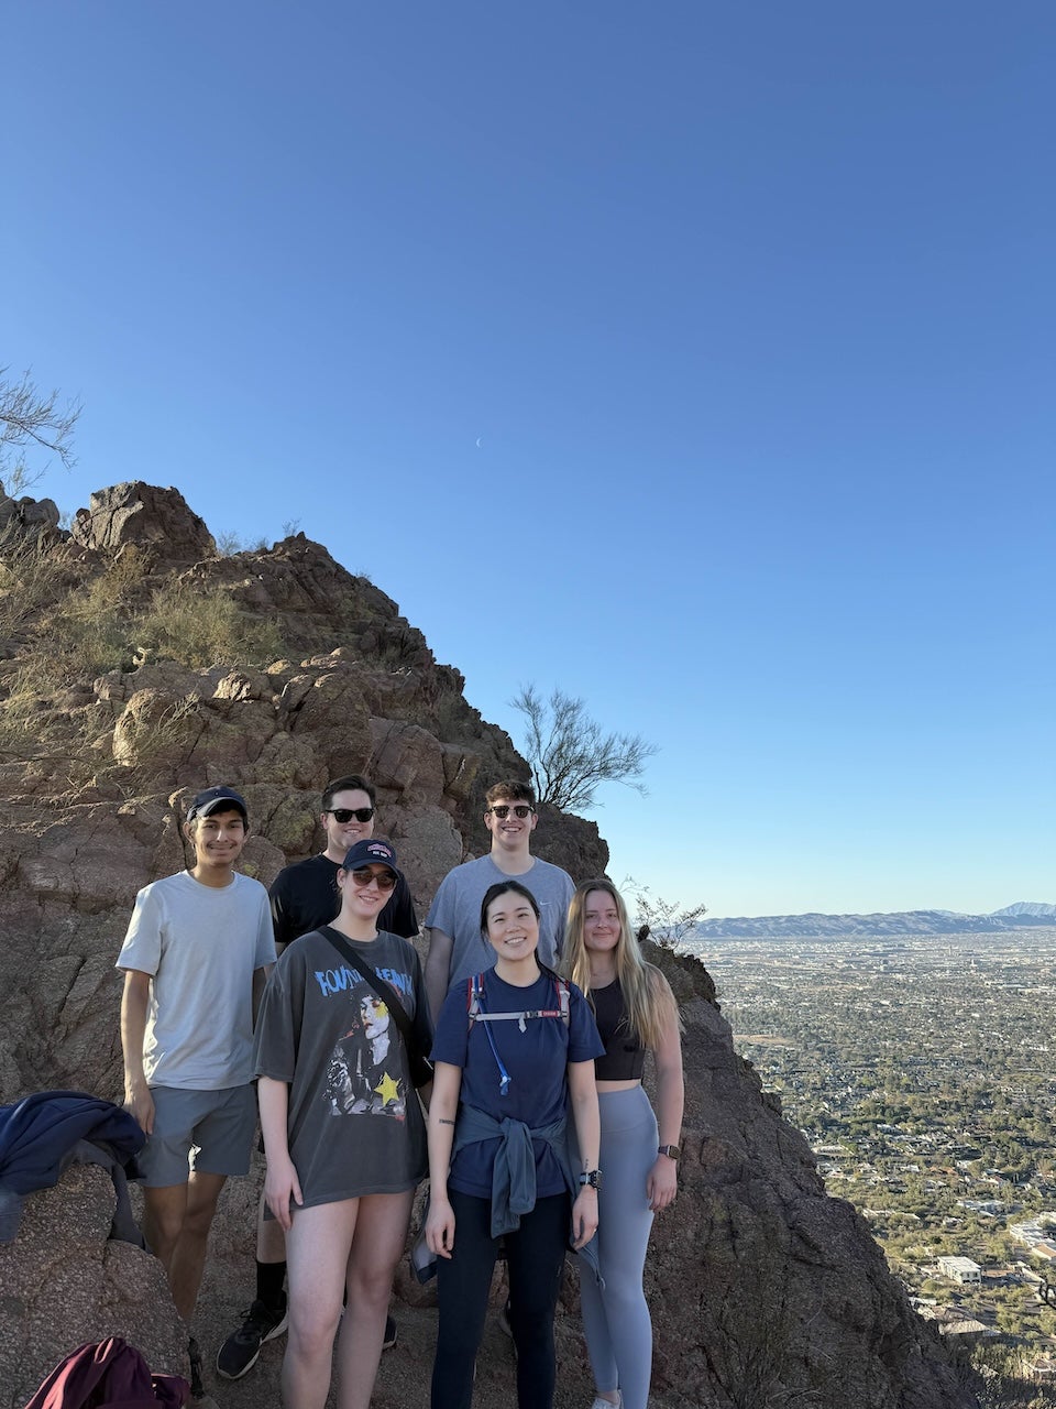
[[480,903],[498,881],[520,881],[539,906],[539,962],[553,967],[565,938],[565,917],[576,889],[560,867],[531,854],[538,823],[535,793],[528,783],[508,781],[489,788],[484,826],[491,851],[449,871],[425,916],[429,952],[425,988],[434,1022],[448,991],[459,979],[491,968],[496,952],[480,934]]

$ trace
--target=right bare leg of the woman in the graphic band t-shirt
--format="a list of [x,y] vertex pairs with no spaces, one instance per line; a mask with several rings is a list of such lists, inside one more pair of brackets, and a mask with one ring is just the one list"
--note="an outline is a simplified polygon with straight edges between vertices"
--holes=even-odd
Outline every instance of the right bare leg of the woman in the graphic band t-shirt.
[[359,1199],[348,1258],[348,1310],[338,1334],[338,1409],[369,1409],[413,1205],[414,1189]]

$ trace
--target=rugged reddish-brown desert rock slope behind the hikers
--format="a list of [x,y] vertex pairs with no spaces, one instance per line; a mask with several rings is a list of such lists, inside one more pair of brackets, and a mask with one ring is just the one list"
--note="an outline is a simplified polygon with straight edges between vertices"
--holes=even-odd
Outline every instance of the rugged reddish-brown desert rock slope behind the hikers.
[[[31,504],[11,523],[15,537],[0,542],[0,1102],[49,1086],[120,1099],[113,962],[135,890],[184,865],[190,792],[245,793],[246,869],[268,883],[318,844],[325,781],[367,772],[379,831],[424,913],[449,867],[484,850],[484,789],[525,765],[396,604],[303,535],[220,558],[175,490],[145,485],[93,495],[69,538]],[[211,634],[179,634],[187,609]],[[591,823],[545,816],[536,837],[576,879],[604,871]],[[805,1143],[735,1055],[707,974],[659,957],[684,1005],[689,1089],[681,1192],[658,1220],[646,1272],[655,1403],[967,1409],[973,1398],[867,1229],[825,1195]],[[62,1343],[75,1333],[48,1306],[41,1262],[49,1244],[65,1246],[72,1210],[97,1210],[76,1241],[86,1285],[100,1289],[84,1295],[79,1324],[137,1334],[130,1308],[103,1291],[130,1260],[96,1236],[106,1188],[68,1179],[30,1200],[31,1241],[0,1254],[0,1406],[21,1405],[77,1343]],[[207,1364],[249,1299],[253,1198],[249,1181],[232,1184],[215,1229],[199,1316]],[[4,1265],[21,1268],[17,1295]],[[158,1299],[151,1275],[145,1260],[134,1302]],[[397,1292],[401,1341],[376,1403],[424,1406],[429,1293],[406,1279]],[[589,1403],[574,1274],[563,1305],[559,1403]],[[179,1370],[179,1330],[166,1315],[155,1330],[156,1368]],[[235,1409],[277,1403],[277,1365],[279,1347],[266,1347],[246,1381],[213,1392]],[[510,1403],[511,1384],[507,1343],[489,1332],[479,1402]]]

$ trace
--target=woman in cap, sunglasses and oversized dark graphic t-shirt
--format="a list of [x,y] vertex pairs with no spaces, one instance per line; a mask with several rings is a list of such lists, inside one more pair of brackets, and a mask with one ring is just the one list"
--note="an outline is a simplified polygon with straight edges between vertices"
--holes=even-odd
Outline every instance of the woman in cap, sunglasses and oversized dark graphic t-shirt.
[[283,1403],[296,1409],[324,1409],[335,1334],[338,1409],[370,1403],[393,1274],[425,1175],[425,1126],[403,1036],[384,998],[341,954],[344,941],[393,989],[427,1051],[418,954],[376,927],[398,878],[387,841],[349,850],[338,871],[338,917],[286,948],[256,1027],[265,1198],[286,1230]]

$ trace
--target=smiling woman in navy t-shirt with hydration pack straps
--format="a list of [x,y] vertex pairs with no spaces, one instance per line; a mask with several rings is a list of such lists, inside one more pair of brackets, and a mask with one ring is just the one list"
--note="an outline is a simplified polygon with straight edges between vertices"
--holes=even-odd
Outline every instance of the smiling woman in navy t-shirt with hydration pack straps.
[[[594,1058],[603,1053],[574,986],[541,968],[539,907],[517,881],[493,885],[480,929],[496,967],[453,989],[432,1047],[431,1202],[425,1224],[438,1254],[439,1332],[432,1409],[467,1409],[500,1239],[510,1271],[510,1329],[521,1409],[553,1403],[553,1309],[569,1241],[597,1230],[598,1109]],[[582,1169],[567,1165],[569,1107]]]

